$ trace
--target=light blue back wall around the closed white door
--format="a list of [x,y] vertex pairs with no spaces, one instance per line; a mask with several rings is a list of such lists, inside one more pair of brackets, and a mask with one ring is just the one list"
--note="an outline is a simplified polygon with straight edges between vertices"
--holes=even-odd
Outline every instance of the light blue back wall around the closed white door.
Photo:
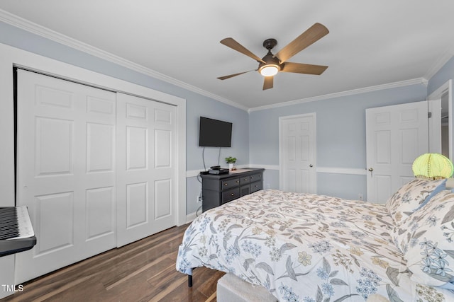
[[[365,169],[365,109],[425,98],[426,86],[419,84],[250,112],[250,162],[279,165],[279,117],[315,112],[317,167]],[[269,175],[264,176],[265,184],[279,187],[278,171]],[[348,199],[366,197],[366,178],[317,173],[317,191]]]

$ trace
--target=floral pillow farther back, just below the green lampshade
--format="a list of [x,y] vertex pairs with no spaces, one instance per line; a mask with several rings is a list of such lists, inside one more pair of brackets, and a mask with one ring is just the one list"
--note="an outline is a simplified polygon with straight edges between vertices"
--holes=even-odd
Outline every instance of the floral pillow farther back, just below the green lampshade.
[[385,206],[394,222],[399,226],[414,211],[423,207],[429,199],[441,190],[445,190],[446,180],[428,180],[416,178],[403,185],[392,197],[389,197]]

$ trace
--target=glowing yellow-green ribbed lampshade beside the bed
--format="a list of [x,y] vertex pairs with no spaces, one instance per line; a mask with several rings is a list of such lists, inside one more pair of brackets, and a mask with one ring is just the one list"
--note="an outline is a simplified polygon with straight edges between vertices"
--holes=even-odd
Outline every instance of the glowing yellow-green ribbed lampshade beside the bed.
[[424,153],[416,158],[412,165],[416,177],[440,179],[453,175],[453,163],[439,153]]

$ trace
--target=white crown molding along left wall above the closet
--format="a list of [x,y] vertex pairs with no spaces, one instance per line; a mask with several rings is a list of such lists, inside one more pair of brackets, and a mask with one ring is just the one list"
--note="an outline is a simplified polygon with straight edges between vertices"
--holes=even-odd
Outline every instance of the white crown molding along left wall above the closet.
[[112,62],[114,64],[118,64],[120,66],[126,67],[133,71],[137,71],[140,74],[145,74],[146,76],[151,76],[155,79],[165,81],[166,83],[170,83],[172,85],[178,86],[180,88],[184,88],[188,91],[192,91],[194,93],[198,93],[200,95],[204,95],[208,98],[212,98],[214,100],[218,100],[221,103],[225,103],[227,105],[231,105],[233,107],[239,108],[241,110],[248,111],[248,108],[240,105],[238,103],[233,102],[232,100],[228,100],[226,98],[222,98],[219,95],[215,95],[214,93],[210,93],[208,91],[204,91],[201,88],[196,86],[189,85],[183,81],[179,81],[174,79],[170,76],[166,76],[165,74],[161,74],[158,71],[153,69],[149,69],[145,66],[140,64],[136,64],[131,62],[127,59],[123,59],[122,57],[118,57],[115,54],[111,54],[110,52],[105,52],[104,50],[100,50],[92,45],[88,45],[87,43],[81,42],[79,40],[73,39],[72,37],[68,37],[61,33],[57,33],[55,30],[51,30],[50,28],[45,28],[42,25],[38,25],[31,21],[28,21],[24,18],[16,16],[12,13],[7,11],[3,11],[0,9],[0,21],[7,23],[9,25],[13,25],[16,28],[21,28],[22,30],[26,30],[29,33],[33,33],[35,35],[39,35],[41,37],[45,37],[46,39],[52,40],[54,42],[60,43],[62,45],[66,45],[68,47],[74,48],[75,50],[79,50],[81,52],[85,52],[87,54],[91,54],[94,57],[99,57],[100,59],[104,59],[106,61]]

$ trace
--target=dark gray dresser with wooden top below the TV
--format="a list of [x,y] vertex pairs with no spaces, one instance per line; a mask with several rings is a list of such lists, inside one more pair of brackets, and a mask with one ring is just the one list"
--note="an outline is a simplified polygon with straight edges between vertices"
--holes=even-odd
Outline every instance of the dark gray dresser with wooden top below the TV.
[[202,211],[213,209],[244,195],[263,189],[263,168],[244,168],[245,172],[201,174]]

